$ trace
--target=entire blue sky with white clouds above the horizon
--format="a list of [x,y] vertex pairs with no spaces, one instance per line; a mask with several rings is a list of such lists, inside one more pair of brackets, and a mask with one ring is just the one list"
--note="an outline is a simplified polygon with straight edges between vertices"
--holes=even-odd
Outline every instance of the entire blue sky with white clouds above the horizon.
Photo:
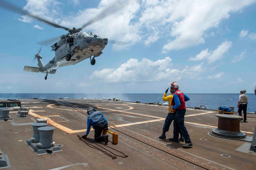
[[[126,3],[83,31],[129,44],[109,43],[94,66],[86,59],[44,80],[24,66],[37,67],[36,43],[67,32],[0,8],[0,93],[164,93],[173,81],[184,93],[254,93],[256,1],[9,2],[69,28]],[[45,65],[55,56],[51,45],[40,52]]]

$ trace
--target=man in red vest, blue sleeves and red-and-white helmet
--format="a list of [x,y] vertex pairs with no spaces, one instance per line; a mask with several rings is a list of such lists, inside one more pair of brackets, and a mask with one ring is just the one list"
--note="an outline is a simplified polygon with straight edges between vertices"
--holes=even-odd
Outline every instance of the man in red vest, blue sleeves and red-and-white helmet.
[[185,101],[189,100],[189,97],[185,95],[182,91],[178,90],[179,85],[177,82],[171,84],[171,89],[174,90],[174,95],[170,108],[176,111],[176,115],[173,120],[173,138],[169,138],[170,141],[179,142],[179,129],[182,136],[185,139],[185,145],[182,148],[189,148],[193,146],[188,130],[184,125],[184,116],[186,113]]

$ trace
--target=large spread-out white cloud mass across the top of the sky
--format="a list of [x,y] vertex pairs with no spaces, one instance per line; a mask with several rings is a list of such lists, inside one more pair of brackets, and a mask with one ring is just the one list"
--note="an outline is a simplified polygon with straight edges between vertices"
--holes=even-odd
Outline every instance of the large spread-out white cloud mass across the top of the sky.
[[[76,4],[79,0],[71,2]],[[139,42],[150,46],[159,38],[165,38],[162,53],[167,53],[170,50],[189,48],[204,43],[205,37],[215,36],[210,29],[218,28],[221,21],[229,18],[231,12],[241,11],[253,2],[252,0],[232,2],[222,0],[101,0],[97,7],[81,9],[75,14],[70,14],[62,10],[65,4],[59,1],[27,0],[24,9],[65,27],[78,28],[83,24],[81,21],[89,21],[111,4],[125,4],[122,10],[108,15],[104,20],[88,25],[86,29],[92,30],[101,37],[107,37],[109,40],[130,42],[129,46]],[[250,34],[250,38],[256,38],[256,35]]]

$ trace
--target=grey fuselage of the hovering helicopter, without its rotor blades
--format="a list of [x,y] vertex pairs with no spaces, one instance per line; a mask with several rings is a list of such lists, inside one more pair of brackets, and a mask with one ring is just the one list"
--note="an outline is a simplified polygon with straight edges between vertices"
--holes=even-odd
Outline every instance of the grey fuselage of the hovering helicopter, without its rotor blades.
[[[40,67],[39,65],[40,72],[50,72],[59,67],[74,65],[91,56],[98,57],[102,54],[102,50],[108,43],[107,38],[101,38],[85,31],[72,34],[71,36],[73,37],[73,43],[68,43],[67,35],[63,35],[60,37],[61,39],[52,46],[55,51],[55,57],[45,66]],[[58,45],[58,43],[60,45]],[[68,55],[71,56],[70,59],[68,59]],[[38,60],[40,60],[40,58],[38,58]]]

